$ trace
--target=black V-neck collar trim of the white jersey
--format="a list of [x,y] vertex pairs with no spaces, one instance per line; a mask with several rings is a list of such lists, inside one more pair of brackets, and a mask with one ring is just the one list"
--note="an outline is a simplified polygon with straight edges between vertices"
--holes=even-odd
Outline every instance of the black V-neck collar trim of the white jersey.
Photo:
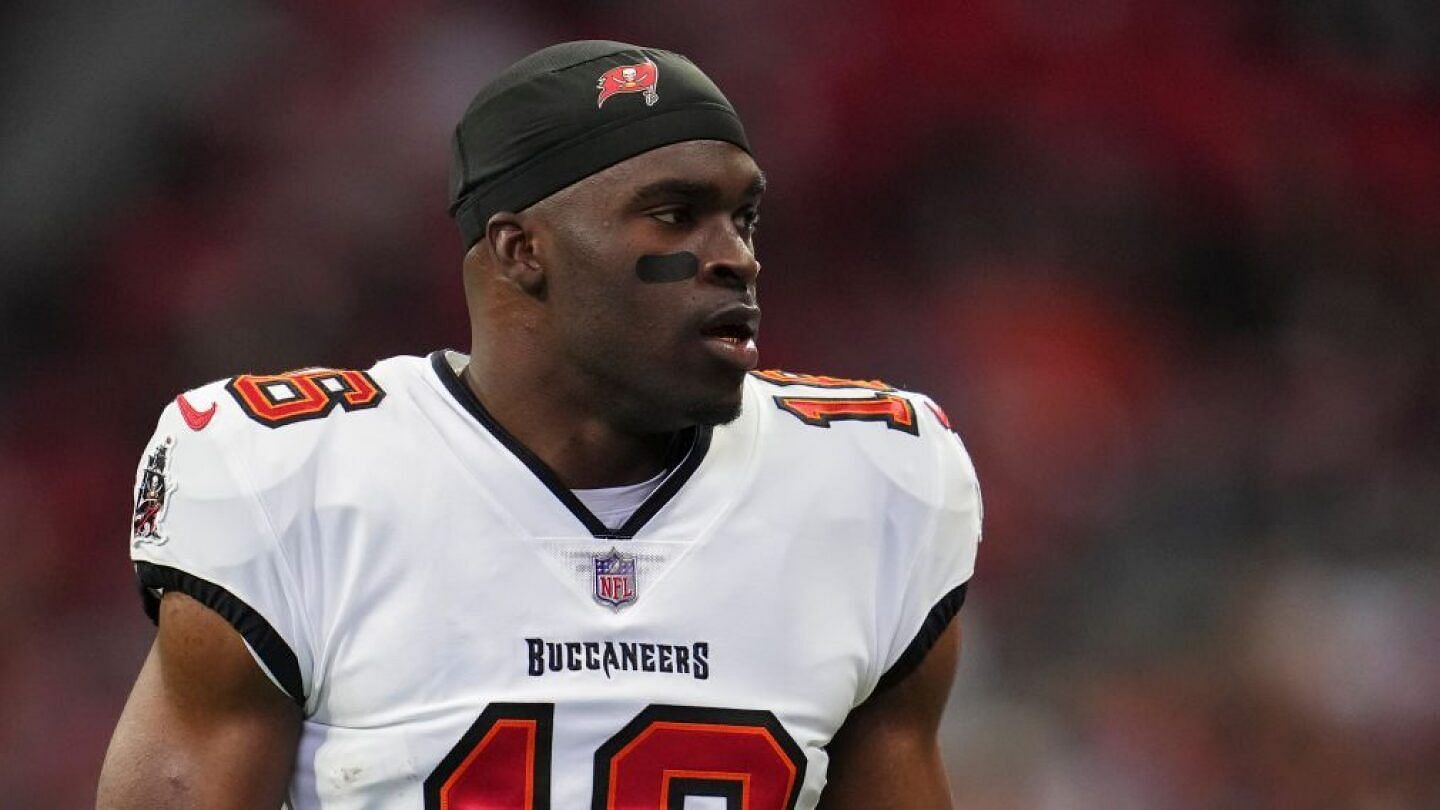
[[491,435],[495,437],[500,444],[505,447],[516,458],[518,458],[534,477],[550,490],[550,493],[570,510],[575,517],[585,525],[585,528],[599,539],[616,539],[628,540],[634,538],[644,526],[654,517],[675,494],[685,481],[696,473],[700,463],[704,461],[706,453],[710,450],[710,438],[713,428],[708,425],[700,425],[693,428],[685,428],[672,442],[671,457],[667,458],[667,466],[670,467],[670,474],[655,491],[649,493],[649,497],[641,503],[639,509],[629,516],[628,520],[619,529],[611,529],[595,516],[580,499],[575,497],[575,493],[560,481],[560,477],[550,468],[549,464],[540,460],[528,447],[520,442],[510,431],[504,428],[495,418],[485,409],[475,396],[475,392],[459,379],[455,369],[451,368],[449,360],[445,359],[445,350],[431,353],[431,368],[435,375],[441,379],[445,391],[455,398],[456,402],[480,422]]

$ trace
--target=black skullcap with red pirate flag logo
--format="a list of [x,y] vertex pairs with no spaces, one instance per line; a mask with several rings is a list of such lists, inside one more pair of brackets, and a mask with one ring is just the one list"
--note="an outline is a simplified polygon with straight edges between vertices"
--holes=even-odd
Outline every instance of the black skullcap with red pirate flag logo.
[[665,144],[750,151],[720,88],[690,59],[624,42],[564,42],[516,62],[455,127],[451,216],[469,248],[498,210],[518,212]]

